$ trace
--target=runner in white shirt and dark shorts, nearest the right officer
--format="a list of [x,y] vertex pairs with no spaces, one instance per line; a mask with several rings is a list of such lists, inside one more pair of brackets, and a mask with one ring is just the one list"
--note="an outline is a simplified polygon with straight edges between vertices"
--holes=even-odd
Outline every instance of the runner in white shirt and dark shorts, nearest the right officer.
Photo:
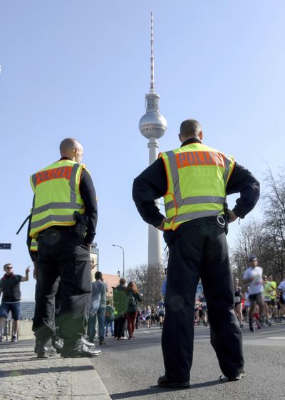
[[254,332],[254,327],[252,326],[252,314],[254,313],[255,304],[258,304],[260,314],[264,309],[264,301],[262,297],[262,292],[264,291],[262,271],[262,268],[258,266],[257,256],[250,256],[249,268],[244,272],[243,280],[244,284],[249,285],[249,329],[252,332]]

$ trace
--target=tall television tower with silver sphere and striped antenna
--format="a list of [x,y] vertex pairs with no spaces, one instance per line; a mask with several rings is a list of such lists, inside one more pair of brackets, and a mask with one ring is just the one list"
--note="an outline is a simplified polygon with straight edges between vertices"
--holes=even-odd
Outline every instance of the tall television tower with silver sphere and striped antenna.
[[[160,96],[155,91],[155,58],[153,55],[153,14],[150,14],[150,93],[145,95],[146,113],[140,119],[139,129],[142,136],[148,139],[149,160],[152,164],[157,159],[159,143],[157,139],[165,134],[167,121],[160,114]],[[159,200],[155,201],[159,207]],[[148,226],[148,266],[162,264],[162,248],[160,231]]]

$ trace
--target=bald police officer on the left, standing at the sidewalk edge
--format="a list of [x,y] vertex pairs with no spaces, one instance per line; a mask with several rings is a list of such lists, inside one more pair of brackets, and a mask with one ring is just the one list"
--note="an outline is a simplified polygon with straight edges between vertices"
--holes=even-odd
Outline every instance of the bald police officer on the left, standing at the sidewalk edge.
[[90,246],[97,224],[96,194],[90,174],[81,164],[83,146],[76,139],[64,139],[60,152],[60,160],[31,176],[34,197],[29,240],[37,241],[38,250],[33,319],[37,354],[39,358],[51,355],[60,276],[58,324],[59,336],[64,339],[61,356],[96,356],[100,350],[86,345],[83,337],[90,307]]

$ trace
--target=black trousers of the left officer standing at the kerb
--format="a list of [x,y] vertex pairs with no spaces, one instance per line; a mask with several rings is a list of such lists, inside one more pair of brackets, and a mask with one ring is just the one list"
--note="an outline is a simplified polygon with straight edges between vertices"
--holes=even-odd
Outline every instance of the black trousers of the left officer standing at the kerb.
[[56,226],[38,236],[37,294],[33,331],[36,339],[54,336],[55,296],[61,277],[58,335],[73,344],[86,334],[91,299],[90,251],[73,227]]

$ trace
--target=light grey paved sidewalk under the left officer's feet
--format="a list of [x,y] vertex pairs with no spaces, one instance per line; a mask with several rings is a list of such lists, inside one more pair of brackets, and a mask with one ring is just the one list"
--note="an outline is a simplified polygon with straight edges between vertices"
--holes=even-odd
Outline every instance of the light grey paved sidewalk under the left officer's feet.
[[87,357],[37,359],[33,347],[33,339],[0,342],[1,400],[110,400]]

